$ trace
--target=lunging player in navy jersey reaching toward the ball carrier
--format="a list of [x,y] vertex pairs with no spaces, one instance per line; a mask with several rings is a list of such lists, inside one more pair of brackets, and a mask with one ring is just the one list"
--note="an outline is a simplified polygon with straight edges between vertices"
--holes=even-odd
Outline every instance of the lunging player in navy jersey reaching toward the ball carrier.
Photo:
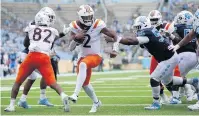
[[[146,110],[158,110],[161,105],[159,102],[160,82],[164,85],[185,85],[192,84],[198,88],[198,78],[176,78],[173,76],[173,69],[179,62],[178,55],[168,49],[170,43],[159,33],[156,28],[151,26],[149,18],[139,16],[136,18],[133,27],[137,31],[137,37],[123,37],[118,41],[125,45],[141,45],[158,61],[158,66],[150,75],[150,84],[152,87],[153,103],[145,107]],[[114,48],[118,44],[114,44]]]

